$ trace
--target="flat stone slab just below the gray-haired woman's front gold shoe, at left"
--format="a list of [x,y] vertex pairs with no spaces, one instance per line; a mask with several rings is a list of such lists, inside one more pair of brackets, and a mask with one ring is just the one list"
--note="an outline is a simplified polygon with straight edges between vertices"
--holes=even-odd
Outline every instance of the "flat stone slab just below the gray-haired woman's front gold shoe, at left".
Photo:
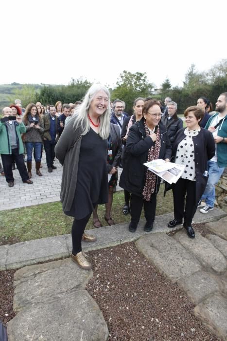
[[67,292],[85,289],[92,276],[92,270],[85,271],[75,266],[69,258],[45,266],[26,266],[15,273],[14,310],[47,303]]

